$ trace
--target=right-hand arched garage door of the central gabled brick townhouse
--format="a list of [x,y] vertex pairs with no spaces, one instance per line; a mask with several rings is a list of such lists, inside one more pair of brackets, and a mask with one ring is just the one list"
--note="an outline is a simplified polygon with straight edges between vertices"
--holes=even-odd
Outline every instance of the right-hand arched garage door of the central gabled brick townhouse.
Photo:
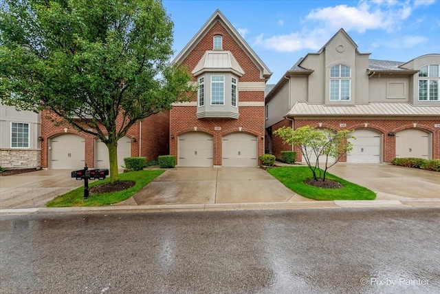
[[223,167],[256,167],[259,164],[256,136],[245,133],[224,136],[221,154]]

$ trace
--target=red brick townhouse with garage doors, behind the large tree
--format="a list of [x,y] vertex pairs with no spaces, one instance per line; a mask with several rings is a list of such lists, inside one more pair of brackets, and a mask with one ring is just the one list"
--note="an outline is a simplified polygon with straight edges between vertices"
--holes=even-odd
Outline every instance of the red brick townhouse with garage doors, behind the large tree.
[[[88,167],[109,168],[109,151],[104,143],[70,125],[55,124],[48,116],[51,116],[49,111],[41,114],[41,167],[78,169],[87,163]],[[54,114],[52,117],[56,119]],[[168,154],[168,136],[168,110],[135,123],[118,140],[118,167],[124,165],[126,157],[146,156],[147,160],[157,160],[157,156]]]

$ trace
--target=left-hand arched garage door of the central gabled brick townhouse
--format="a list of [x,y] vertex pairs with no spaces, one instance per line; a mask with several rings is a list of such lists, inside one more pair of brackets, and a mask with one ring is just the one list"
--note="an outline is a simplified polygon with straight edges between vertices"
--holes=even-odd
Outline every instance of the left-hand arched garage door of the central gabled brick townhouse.
[[190,132],[178,138],[177,165],[179,167],[212,167],[214,141],[210,134]]

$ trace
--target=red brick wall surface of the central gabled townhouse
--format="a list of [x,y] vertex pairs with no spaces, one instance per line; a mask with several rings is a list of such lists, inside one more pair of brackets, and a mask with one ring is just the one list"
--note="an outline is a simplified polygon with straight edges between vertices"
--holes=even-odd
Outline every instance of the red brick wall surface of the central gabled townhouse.
[[[210,29],[204,34],[200,41],[186,55],[182,65],[186,65],[191,72],[201,60],[207,50],[213,48],[214,35],[223,37],[223,50],[229,50],[243,71],[243,76],[239,77],[239,83],[243,82],[263,82],[261,70],[250,59],[250,56],[243,50],[234,37],[228,32],[220,21],[215,21]],[[192,81],[197,81],[193,76]],[[197,106],[175,106],[170,110],[170,154],[175,155],[178,165],[178,136],[186,132],[205,132],[213,136],[214,140],[214,165],[221,165],[221,144],[222,137],[228,134],[243,132],[256,136],[258,142],[258,156],[264,154],[264,90],[261,91],[241,91],[239,85],[239,118],[200,118],[196,117]],[[210,95],[206,97],[210,99]],[[197,97],[193,98],[197,101]],[[240,106],[240,103],[252,102],[259,103],[258,106]],[[221,127],[220,131],[215,131],[214,127]]]

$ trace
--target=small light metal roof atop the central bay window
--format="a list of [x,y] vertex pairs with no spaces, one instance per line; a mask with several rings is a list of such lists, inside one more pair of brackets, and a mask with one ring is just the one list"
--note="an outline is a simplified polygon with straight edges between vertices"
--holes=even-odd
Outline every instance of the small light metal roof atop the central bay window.
[[212,71],[230,71],[234,72],[234,74],[237,74],[238,76],[243,76],[245,73],[234,58],[234,55],[232,55],[232,52],[216,50],[206,51],[191,73],[195,76],[198,76],[202,72]]

